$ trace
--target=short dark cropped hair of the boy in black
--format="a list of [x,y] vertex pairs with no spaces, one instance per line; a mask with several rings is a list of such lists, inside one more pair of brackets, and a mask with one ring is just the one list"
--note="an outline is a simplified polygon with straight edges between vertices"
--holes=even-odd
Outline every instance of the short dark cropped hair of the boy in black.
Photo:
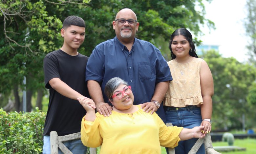
[[63,21],[63,28],[64,29],[70,27],[71,25],[85,28],[84,20],[81,17],[75,16],[75,15],[68,16]]

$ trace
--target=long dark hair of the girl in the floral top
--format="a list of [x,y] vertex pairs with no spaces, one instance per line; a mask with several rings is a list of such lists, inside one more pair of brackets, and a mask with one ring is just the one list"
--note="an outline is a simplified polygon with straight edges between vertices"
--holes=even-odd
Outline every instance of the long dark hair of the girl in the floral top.
[[191,47],[191,51],[189,51],[189,55],[192,57],[198,58],[191,33],[187,29],[180,28],[180,29],[176,29],[171,35],[169,49],[171,50],[172,60],[176,58],[176,55],[172,52],[172,41],[173,41],[173,38],[178,35],[184,36],[186,40],[189,42],[189,45]]

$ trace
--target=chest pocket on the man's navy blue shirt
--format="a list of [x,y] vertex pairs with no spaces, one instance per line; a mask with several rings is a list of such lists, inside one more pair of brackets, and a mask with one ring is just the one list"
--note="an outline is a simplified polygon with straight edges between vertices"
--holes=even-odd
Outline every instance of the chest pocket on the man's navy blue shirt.
[[138,63],[139,78],[142,80],[156,78],[155,68],[150,65],[149,62]]

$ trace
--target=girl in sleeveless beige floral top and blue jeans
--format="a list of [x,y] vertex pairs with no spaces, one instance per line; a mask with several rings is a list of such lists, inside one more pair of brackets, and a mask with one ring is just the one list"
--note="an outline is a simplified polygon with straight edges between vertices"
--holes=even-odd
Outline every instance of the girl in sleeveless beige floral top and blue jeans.
[[[169,48],[168,62],[173,81],[165,95],[163,106],[167,123],[178,127],[204,126],[204,134],[211,131],[213,78],[207,63],[198,58],[191,33],[184,28],[175,30]],[[197,139],[179,142],[175,153],[187,154]],[[197,154],[204,154],[202,145]]]

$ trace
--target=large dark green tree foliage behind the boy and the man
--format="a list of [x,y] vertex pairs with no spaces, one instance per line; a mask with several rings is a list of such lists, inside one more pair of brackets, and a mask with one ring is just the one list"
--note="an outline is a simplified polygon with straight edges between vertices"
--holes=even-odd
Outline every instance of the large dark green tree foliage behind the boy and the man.
[[[26,89],[31,94],[44,89],[43,58],[62,45],[60,29],[69,15],[86,22],[86,38],[79,52],[87,56],[93,48],[115,37],[112,21],[123,8],[131,8],[140,23],[137,37],[155,43],[169,40],[177,28],[200,35],[199,26],[214,24],[204,18],[203,0],[2,0],[0,2],[0,93]],[[207,0],[211,1],[211,0]],[[195,9],[195,8],[200,9]],[[19,92],[14,92],[15,94]],[[15,99],[20,97],[15,95]],[[17,108],[16,108],[17,109]]]

